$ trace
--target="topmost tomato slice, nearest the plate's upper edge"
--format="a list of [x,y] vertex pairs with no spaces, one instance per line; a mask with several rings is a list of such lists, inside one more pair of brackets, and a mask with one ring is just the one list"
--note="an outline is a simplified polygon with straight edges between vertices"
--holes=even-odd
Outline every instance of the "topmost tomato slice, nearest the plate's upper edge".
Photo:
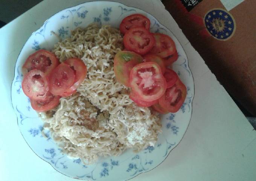
[[141,14],[133,14],[123,18],[119,29],[120,32],[124,35],[132,27],[144,27],[145,29],[149,30],[150,20]]

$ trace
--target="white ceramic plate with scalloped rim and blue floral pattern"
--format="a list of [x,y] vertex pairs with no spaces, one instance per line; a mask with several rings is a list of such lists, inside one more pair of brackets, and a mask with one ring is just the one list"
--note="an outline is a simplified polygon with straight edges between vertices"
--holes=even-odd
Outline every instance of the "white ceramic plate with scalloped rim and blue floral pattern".
[[[41,134],[43,122],[31,108],[29,99],[21,89],[21,66],[26,58],[36,50],[44,48],[51,50],[58,42],[55,32],[61,38],[70,36],[70,30],[76,27],[86,27],[92,22],[110,24],[119,27],[122,19],[131,14],[143,14],[151,21],[151,32],[165,33],[175,41],[179,54],[174,70],[187,87],[187,97],[181,109],[175,114],[162,116],[163,134],[158,136],[155,146],[135,154],[132,150],[125,151],[119,157],[102,158],[97,163],[85,166],[80,159],[71,159],[63,155],[61,149],[51,139]],[[147,172],[168,156],[182,139],[192,115],[192,100],[194,97],[194,80],[188,66],[187,56],[177,38],[152,15],[141,9],[125,6],[116,2],[88,2],[64,9],[48,20],[27,40],[22,48],[16,65],[11,89],[12,105],[17,114],[18,127],[30,148],[40,158],[47,161],[54,169],[64,175],[78,179],[98,181],[119,181],[131,179],[140,173]]]

